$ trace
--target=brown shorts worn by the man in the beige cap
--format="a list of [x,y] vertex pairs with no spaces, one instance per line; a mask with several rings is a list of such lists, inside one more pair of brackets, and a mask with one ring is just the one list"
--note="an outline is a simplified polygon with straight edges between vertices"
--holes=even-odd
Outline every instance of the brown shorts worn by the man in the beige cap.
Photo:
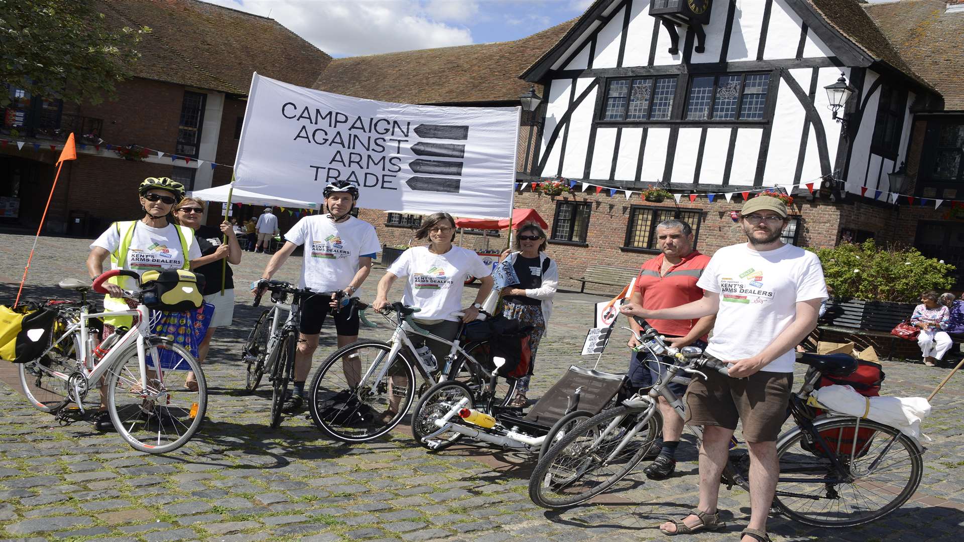
[[686,423],[736,429],[743,423],[743,439],[775,442],[787,420],[792,372],[759,371],[748,378],[730,378],[705,371],[707,380],[694,377],[686,391]]

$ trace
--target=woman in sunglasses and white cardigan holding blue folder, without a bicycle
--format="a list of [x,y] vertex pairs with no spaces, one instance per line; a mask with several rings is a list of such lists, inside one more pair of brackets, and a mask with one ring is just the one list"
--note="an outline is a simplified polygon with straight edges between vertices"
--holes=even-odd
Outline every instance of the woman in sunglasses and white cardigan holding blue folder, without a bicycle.
[[509,406],[524,407],[536,364],[539,340],[546,336],[546,326],[552,313],[552,297],[559,285],[559,268],[546,254],[546,232],[534,222],[526,222],[516,233],[516,247],[503,255],[519,277],[519,284],[509,285],[499,292],[502,296],[502,315],[518,320],[523,326],[533,326],[529,334],[529,371],[519,379],[516,396]]

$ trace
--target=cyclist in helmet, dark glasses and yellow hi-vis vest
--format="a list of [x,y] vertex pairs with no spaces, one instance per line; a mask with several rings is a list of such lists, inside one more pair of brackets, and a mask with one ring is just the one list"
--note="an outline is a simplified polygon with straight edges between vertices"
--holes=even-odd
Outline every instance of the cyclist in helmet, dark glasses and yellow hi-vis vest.
[[[150,269],[188,269],[190,261],[201,257],[194,230],[171,224],[174,205],[184,197],[184,185],[162,176],[147,177],[138,187],[139,203],[144,211],[140,220],[115,222],[91,243],[87,271],[91,279],[103,273],[105,257],[111,257],[111,269],[127,269],[138,274]],[[114,277],[104,285],[105,311],[125,311],[130,306],[122,299],[124,289],[134,289],[129,277]],[[106,338],[118,327],[130,327],[132,316],[104,318]],[[106,409],[106,393],[100,393],[101,409]],[[96,420],[98,430],[111,430],[114,424],[106,411]]]

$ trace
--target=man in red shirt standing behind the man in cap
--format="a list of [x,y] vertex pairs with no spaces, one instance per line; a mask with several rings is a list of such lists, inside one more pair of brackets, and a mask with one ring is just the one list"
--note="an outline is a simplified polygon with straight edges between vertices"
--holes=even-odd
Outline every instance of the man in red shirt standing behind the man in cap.
[[[656,226],[656,246],[662,254],[642,265],[630,302],[644,309],[678,307],[703,298],[703,289],[696,286],[710,257],[693,250],[693,230],[682,220],[671,219]],[[713,328],[715,315],[691,320],[648,320],[660,335],[677,347],[699,346],[706,348],[707,333]],[[639,333],[639,325],[632,319],[629,326]],[[635,337],[629,346],[636,346]],[[644,371],[649,371],[646,375]],[[636,383],[656,383],[665,374],[649,352],[638,352],[629,362],[629,380]],[[649,378],[647,378],[647,376]],[[670,390],[682,397],[686,393],[683,384],[671,383]],[[647,477],[661,480],[676,471],[676,448],[683,434],[683,420],[665,398],[659,397],[659,412],[663,419],[663,444],[652,464],[643,470]]]

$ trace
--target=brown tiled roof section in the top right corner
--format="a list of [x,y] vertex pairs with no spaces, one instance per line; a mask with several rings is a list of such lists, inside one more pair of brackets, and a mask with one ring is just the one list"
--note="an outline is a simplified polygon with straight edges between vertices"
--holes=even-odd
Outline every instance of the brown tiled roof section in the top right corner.
[[901,0],[864,6],[900,56],[944,97],[964,110],[964,13],[945,14],[946,0]]

